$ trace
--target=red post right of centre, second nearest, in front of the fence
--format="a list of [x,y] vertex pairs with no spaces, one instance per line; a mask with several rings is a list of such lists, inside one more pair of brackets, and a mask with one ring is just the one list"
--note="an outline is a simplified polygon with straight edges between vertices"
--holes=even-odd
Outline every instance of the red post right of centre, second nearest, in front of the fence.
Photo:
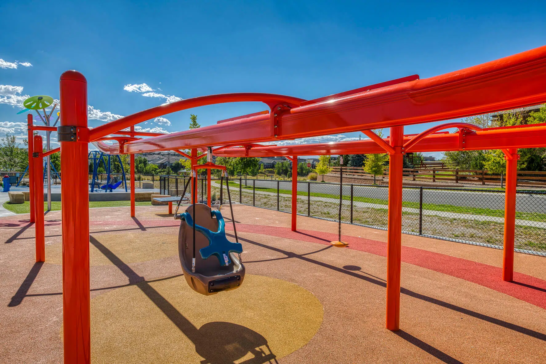
[[400,328],[400,261],[402,250],[403,127],[390,128],[389,219],[387,227],[387,316],[391,331]]

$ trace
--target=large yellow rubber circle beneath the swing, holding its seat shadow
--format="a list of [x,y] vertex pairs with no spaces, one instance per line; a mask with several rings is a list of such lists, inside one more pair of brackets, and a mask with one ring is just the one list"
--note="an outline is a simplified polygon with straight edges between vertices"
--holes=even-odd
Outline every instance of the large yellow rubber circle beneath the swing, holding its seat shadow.
[[94,363],[263,363],[310,341],[323,308],[281,279],[247,275],[239,289],[205,297],[175,277],[100,295],[91,318]]

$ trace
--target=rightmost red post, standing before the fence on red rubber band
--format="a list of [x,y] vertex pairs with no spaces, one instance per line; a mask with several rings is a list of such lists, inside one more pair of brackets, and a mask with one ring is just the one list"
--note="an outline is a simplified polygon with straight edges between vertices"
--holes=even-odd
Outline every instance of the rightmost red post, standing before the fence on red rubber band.
[[505,192],[505,241],[502,253],[502,280],[512,282],[514,278],[514,236],[515,236],[515,192],[518,178],[517,149],[509,149],[506,156]]

